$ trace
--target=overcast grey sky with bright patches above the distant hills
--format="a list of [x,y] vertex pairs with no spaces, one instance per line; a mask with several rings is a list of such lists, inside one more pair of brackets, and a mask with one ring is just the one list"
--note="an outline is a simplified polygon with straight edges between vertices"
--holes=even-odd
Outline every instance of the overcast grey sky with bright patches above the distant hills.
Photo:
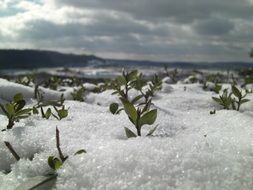
[[250,61],[253,0],[0,0],[0,48]]

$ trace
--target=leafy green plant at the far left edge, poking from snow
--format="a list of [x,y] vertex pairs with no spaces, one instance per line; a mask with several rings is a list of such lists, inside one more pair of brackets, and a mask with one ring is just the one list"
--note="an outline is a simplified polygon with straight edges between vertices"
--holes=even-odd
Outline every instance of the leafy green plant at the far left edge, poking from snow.
[[31,108],[24,108],[26,105],[26,101],[23,98],[21,93],[16,94],[13,97],[13,100],[5,105],[0,104],[0,107],[3,113],[8,118],[7,129],[12,129],[15,122],[19,122],[19,120],[27,118],[31,115]]

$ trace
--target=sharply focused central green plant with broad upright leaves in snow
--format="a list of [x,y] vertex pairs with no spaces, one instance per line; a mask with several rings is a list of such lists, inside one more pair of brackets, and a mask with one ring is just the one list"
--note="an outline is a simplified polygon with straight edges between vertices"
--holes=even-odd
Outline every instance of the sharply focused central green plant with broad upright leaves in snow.
[[[132,122],[132,124],[135,126],[137,130],[136,135],[130,129],[125,127],[127,137],[131,138],[141,136],[141,128],[143,127],[143,125],[152,125],[155,122],[157,117],[157,109],[150,110],[151,100],[148,101],[143,108],[138,107],[137,109],[128,100],[124,98],[120,98],[120,100],[124,106],[124,110],[128,115],[129,120]],[[151,129],[147,134],[147,136],[152,135],[153,132],[156,130],[156,128],[157,126]]]

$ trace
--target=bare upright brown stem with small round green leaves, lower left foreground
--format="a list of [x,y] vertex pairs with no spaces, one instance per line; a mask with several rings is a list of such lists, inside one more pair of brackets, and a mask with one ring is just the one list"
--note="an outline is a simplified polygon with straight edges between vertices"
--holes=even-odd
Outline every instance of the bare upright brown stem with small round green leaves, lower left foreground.
[[[58,170],[63,163],[68,159],[68,156],[64,156],[60,147],[60,132],[56,127],[56,148],[58,150],[58,157],[56,156],[49,156],[48,157],[48,165],[53,170]],[[84,149],[77,151],[74,155],[86,153]]]

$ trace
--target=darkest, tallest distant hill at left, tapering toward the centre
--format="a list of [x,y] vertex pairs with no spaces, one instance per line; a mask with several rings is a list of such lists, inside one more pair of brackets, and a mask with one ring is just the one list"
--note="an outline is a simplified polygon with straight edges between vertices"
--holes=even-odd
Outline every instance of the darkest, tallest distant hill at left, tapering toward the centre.
[[34,69],[43,67],[84,67],[105,62],[93,55],[63,54],[40,50],[0,50],[0,69]]

